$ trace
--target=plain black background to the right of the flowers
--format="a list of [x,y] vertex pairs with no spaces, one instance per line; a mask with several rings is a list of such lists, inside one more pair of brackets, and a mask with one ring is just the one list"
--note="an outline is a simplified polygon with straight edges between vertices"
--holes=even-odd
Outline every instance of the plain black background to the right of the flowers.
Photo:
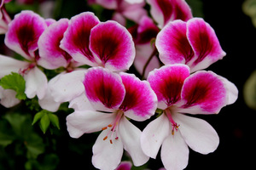
[[227,54],[207,70],[234,82],[239,96],[235,104],[224,107],[218,115],[202,116],[218,132],[220,144],[207,156],[191,151],[187,169],[254,169],[256,111],[245,104],[243,86],[256,69],[256,29],[242,11],[244,1],[202,2],[204,18]]

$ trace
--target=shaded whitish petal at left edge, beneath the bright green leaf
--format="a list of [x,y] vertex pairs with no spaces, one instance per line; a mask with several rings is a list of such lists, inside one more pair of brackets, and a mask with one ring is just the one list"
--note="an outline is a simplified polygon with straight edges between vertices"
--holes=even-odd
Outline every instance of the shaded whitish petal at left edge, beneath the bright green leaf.
[[20,99],[16,99],[16,92],[11,89],[3,89],[0,86],[0,104],[4,107],[12,107],[20,103]]

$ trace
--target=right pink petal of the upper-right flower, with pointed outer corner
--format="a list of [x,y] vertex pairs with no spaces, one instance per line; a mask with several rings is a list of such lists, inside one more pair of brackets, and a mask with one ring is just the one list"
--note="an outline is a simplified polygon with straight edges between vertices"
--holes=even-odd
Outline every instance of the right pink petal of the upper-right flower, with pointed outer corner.
[[214,30],[203,19],[189,20],[187,29],[189,43],[195,52],[195,59],[189,64],[191,72],[205,69],[225,56]]

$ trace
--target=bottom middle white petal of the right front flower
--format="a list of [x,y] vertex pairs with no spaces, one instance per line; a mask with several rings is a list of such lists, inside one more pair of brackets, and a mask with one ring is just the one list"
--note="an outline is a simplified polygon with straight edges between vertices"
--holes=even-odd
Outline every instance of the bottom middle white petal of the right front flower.
[[166,169],[184,169],[189,161],[189,147],[180,132],[170,134],[161,148],[161,160]]

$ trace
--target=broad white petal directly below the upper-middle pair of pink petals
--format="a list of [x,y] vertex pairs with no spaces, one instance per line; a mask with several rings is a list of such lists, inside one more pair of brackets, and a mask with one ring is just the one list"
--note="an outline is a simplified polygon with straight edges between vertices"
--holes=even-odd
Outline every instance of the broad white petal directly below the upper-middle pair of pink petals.
[[50,87],[56,102],[67,102],[84,92],[84,70],[62,74]]

